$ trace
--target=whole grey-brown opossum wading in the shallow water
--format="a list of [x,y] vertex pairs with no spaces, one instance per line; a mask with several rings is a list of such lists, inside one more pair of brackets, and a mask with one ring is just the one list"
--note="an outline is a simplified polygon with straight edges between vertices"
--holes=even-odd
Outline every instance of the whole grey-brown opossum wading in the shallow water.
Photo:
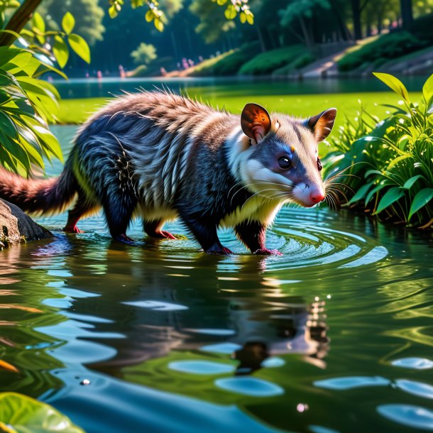
[[26,180],[0,169],[0,197],[25,212],[62,212],[75,199],[65,231],[104,209],[111,236],[143,219],[148,236],[175,239],[165,221],[180,218],[206,253],[230,254],[218,227],[233,227],[254,254],[288,201],[312,207],[325,198],[317,143],[331,131],[336,109],[307,120],[270,115],[248,103],[241,116],[172,92],[114,99],[75,137],[60,177]]

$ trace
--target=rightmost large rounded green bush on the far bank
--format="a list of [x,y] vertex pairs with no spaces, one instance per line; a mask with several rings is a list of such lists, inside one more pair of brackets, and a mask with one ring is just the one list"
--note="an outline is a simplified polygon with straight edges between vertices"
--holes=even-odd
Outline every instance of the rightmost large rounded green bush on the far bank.
[[[337,62],[340,72],[354,70],[363,64],[377,65],[377,61],[386,62],[405,54],[424,48],[427,40],[421,40],[407,31],[388,33],[370,43],[361,45],[356,50],[346,53]],[[381,63],[380,63],[381,64]]]

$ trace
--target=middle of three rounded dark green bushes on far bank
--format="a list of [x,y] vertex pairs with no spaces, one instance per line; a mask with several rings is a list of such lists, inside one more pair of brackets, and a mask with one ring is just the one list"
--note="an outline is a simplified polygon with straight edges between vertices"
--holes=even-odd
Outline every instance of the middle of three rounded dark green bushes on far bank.
[[309,51],[304,45],[291,45],[290,47],[278,48],[277,50],[266,51],[256,55],[249,62],[246,62],[239,74],[241,75],[267,75],[280,67],[289,65],[298,57],[308,54]]

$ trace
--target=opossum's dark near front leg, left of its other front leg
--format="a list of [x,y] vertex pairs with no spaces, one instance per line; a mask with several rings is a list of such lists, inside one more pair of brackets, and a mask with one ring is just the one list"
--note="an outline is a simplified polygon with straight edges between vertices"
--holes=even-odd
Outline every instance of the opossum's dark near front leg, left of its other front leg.
[[233,254],[229,248],[221,245],[217,235],[217,224],[212,221],[206,221],[199,219],[189,214],[182,214],[180,212],[182,221],[185,222],[187,228],[190,229],[195,239],[202,246],[203,250],[207,254],[221,254],[228,256]]

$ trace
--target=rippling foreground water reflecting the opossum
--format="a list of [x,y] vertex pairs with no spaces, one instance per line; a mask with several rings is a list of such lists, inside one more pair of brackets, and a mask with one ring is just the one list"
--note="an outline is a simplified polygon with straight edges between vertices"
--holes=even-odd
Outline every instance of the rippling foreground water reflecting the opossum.
[[[57,127],[65,143],[75,127]],[[51,175],[61,170],[50,168]],[[326,208],[280,212],[268,248],[111,241],[101,215],[0,252],[0,390],[87,432],[433,429],[432,238]],[[185,234],[180,224],[169,226]]]

